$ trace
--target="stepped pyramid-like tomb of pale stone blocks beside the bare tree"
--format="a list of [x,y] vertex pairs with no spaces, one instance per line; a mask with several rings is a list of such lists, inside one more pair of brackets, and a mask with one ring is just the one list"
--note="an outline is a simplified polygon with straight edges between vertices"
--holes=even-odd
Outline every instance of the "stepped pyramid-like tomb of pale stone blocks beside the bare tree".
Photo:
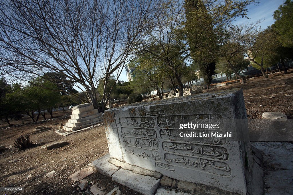
[[66,131],[76,131],[103,122],[103,113],[99,113],[92,103],[80,104],[71,110],[72,115],[64,127]]

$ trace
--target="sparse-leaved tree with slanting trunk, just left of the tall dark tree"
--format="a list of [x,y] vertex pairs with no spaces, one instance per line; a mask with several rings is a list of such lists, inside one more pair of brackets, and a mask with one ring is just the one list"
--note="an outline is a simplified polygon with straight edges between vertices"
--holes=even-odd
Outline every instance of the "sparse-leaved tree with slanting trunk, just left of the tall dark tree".
[[[183,96],[183,69],[186,68],[186,60],[190,56],[184,33],[183,5],[183,1],[170,0],[162,3],[159,14],[155,17],[155,27],[140,48],[163,62],[170,78],[176,79],[180,96]],[[174,80],[172,83],[175,84]]]

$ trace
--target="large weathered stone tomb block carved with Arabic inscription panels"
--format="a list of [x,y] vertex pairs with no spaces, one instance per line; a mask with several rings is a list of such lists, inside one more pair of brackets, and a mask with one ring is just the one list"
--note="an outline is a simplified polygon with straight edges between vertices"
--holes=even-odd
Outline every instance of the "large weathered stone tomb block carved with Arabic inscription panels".
[[[111,158],[225,193],[247,193],[253,159],[247,121],[240,120],[247,119],[241,89],[133,103],[106,110],[103,118]],[[207,121],[221,125],[180,130],[180,124]],[[181,132],[231,132],[233,139]]]

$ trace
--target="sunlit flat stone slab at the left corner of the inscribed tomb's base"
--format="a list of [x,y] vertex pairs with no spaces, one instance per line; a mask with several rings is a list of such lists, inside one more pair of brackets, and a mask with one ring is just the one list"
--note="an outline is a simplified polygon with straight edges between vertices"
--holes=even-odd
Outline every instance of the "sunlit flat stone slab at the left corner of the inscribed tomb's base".
[[109,159],[110,159],[110,155],[109,153],[107,153],[106,155],[93,161],[94,170],[102,173],[103,175],[107,175],[108,177],[111,177],[120,168],[109,163],[108,162]]

